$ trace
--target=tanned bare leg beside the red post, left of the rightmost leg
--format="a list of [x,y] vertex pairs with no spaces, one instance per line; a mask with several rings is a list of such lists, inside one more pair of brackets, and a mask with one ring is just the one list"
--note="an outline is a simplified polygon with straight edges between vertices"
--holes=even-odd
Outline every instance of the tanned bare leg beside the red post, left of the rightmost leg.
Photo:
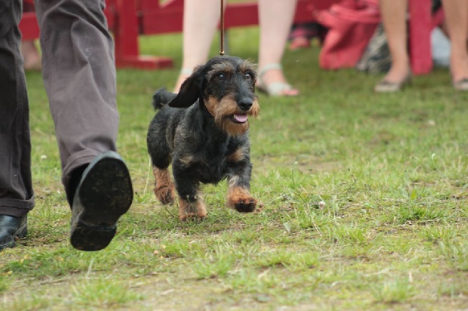
[[392,58],[392,66],[383,80],[391,83],[402,82],[410,73],[407,50],[407,1],[380,0],[380,11]]

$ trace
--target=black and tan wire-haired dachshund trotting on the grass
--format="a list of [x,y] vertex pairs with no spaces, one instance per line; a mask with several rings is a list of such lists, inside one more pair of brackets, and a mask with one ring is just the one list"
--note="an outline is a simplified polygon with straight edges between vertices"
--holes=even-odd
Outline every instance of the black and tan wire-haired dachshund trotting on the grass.
[[[256,70],[246,60],[217,56],[198,66],[180,92],[165,89],[153,96],[160,109],[149,124],[148,152],[155,178],[154,194],[163,204],[179,196],[179,217],[204,218],[200,183],[228,179],[227,204],[254,211],[251,197],[249,121],[257,116]],[[174,183],[168,166],[172,162]]]

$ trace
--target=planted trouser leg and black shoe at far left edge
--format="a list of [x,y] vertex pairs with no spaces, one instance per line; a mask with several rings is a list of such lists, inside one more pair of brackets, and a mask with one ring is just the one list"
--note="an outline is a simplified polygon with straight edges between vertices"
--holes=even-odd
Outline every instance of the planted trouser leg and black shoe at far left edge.
[[20,54],[20,0],[0,0],[0,250],[27,234],[34,206],[29,107]]

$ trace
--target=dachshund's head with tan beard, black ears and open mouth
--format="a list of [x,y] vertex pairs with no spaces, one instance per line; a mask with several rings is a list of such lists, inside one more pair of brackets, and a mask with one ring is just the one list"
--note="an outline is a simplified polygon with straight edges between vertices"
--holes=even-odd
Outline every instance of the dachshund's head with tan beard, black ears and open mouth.
[[200,100],[202,109],[210,112],[219,128],[230,135],[240,135],[249,128],[248,116],[257,116],[260,110],[254,93],[256,77],[250,61],[216,56],[195,68],[168,105],[190,107]]

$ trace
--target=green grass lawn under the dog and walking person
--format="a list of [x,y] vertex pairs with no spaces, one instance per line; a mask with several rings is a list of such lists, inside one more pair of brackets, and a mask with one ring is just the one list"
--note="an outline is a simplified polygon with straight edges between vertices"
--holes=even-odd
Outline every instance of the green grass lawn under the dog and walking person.
[[[230,31],[230,53],[256,60],[257,36]],[[173,69],[117,72],[118,147],[136,193],[101,252],[68,242],[47,97],[27,73],[36,207],[27,238],[0,252],[1,310],[468,308],[468,94],[447,70],[377,95],[379,76],[321,70],[317,47],[286,52],[301,96],[260,94],[251,121],[261,211],[226,208],[220,183],[203,188],[207,219],[182,223],[154,198],[146,150],[152,93],[173,88],[181,42],[141,39]]]

